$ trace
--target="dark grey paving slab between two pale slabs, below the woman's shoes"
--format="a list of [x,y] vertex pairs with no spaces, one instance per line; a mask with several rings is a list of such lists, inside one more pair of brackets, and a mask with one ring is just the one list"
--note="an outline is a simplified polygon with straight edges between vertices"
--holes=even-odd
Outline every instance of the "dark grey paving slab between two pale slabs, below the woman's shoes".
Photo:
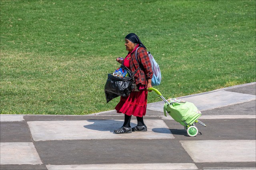
[[194,163],[174,139],[37,141],[34,145],[46,165]]

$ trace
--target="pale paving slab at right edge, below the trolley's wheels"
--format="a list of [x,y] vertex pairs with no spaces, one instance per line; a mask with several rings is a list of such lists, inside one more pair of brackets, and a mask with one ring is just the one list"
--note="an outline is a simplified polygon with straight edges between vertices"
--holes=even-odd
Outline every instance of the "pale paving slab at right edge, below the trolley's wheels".
[[255,140],[180,141],[194,162],[256,162]]

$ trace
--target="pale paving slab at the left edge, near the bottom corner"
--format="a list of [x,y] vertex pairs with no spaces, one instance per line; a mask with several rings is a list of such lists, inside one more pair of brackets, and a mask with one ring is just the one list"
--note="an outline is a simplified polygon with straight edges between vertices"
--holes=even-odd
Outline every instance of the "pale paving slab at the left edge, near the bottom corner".
[[0,143],[0,162],[6,164],[42,164],[32,142]]

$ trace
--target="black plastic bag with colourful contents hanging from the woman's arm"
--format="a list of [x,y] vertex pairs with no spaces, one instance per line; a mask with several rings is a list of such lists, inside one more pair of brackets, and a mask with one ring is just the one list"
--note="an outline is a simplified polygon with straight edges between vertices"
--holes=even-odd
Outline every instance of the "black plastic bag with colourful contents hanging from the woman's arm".
[[132,77],[118,77],[108,74],[105,84],[105,96],[107,103],[118,96],[129,96],[132,91]]

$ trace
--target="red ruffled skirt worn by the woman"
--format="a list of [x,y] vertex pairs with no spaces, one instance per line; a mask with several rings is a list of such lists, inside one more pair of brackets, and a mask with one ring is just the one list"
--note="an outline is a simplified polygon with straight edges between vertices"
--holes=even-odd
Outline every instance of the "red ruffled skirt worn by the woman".
[[134,115],[142,117],[146,115],[148,99],[148,90],[140,90],[139,92],[131,92],[129,96],[120,98],[120,102],[116,105],[117,113],[126,115]]

